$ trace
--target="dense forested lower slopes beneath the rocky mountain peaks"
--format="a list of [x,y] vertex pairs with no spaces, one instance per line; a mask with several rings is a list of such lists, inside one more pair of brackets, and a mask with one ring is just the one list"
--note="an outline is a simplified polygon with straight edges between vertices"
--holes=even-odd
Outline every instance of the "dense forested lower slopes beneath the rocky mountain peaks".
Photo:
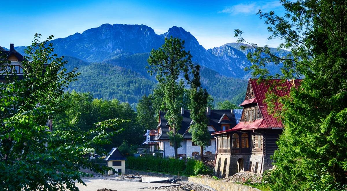
[[[87,63],[74,57],[66,56],[66,68],[78,68],[81,75],[73,82],[67,91],[91,92],[94,98],[106,100],[117,99],[128,102],[133,109],[143,95],[153,93],[156,87],[154,76],[145,69],[148,53],[138,53],[131,56],[119,56],[102,63]],[[145,60],[145,61],[144,61]],[[132,63],[131,66],[129,63]],[[130,70],[126,68],[143,68]],[[206,67],[201,68],[201,83],[212,96],[216,105],[218,101],[230,100],[240,104],[246,92],[247,80],[220,75]]]

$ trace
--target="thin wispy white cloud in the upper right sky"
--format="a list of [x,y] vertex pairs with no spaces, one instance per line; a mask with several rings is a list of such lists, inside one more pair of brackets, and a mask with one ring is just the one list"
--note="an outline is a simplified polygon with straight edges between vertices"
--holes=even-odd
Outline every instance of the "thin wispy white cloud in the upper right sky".
[[259,9],[263,11],[269,11],[271,9],[282,6],[279,1],[268,1],[268,2],[249,2],[249,3],[240,3],[231,7],[226,7],[219,13],[229,13],[232,15],[236,14],[256,14]]

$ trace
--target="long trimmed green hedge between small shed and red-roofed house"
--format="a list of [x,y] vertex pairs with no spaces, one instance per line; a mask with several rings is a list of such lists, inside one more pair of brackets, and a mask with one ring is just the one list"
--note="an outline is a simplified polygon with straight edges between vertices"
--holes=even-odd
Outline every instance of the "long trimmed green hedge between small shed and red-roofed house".
[[126,168],[139,171],[161,172],[168,174],[212,174],[213,170],[202,161],[187,159],[179,160],[174,158],[160,158],[153,156],[128,157],[125,163]]

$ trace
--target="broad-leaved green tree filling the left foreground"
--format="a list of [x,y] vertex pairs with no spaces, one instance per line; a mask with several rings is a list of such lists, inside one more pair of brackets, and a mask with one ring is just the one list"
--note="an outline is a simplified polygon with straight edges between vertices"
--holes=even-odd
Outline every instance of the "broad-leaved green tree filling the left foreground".
[[[61,108],[61,95],[78,73],[66,72],[66,61],[49,44],[52,36],[43,42],[39,37],[36,34],[26,50],[24,79],[12,75],[0,83],[0,190],[78,190],[73,180],[84,183],[81,177],[90,176],[80,168],[94,172],[108,168],[92,163],[85,154],[103,153],[98,146],[110,143],[110,136],[125,122],[97,122],[89,131],[77,127],[46,131],[47,119]],[[8,64],[6,58],[0,60]]]

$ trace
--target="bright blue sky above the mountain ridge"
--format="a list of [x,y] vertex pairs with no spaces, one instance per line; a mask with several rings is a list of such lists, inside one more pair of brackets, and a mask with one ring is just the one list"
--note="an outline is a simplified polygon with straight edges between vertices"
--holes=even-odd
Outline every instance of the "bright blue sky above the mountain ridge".
[[6,19],[0,21],[0,45],[7,48],[9,43],[29,45],[35,33],[43,38],[49,35],[64,38],[104,23],[144,24],[156,34],[181,26],[206,49],[236,42],[234,30],[238,28],[249,42],[277,47],[280,41],[267,40],[269,33],[264,20],[255,14],[258,9],[284,14],[279,0],[14,0],[4,1],[1,6],[1,16]]

